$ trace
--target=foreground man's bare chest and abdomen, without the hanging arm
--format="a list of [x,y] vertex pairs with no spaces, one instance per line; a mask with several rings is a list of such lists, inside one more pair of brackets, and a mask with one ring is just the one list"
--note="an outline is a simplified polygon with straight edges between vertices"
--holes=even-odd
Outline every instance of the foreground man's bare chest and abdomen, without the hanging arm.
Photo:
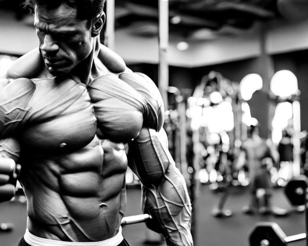
[[145,98],[111,73],[88,86],[67,77],[22,78],[2,93],[12,113],[23,107],[12,129],[20,133],[30,232],[64,241],[114,236],[126,203],[125,147],[141,130]]

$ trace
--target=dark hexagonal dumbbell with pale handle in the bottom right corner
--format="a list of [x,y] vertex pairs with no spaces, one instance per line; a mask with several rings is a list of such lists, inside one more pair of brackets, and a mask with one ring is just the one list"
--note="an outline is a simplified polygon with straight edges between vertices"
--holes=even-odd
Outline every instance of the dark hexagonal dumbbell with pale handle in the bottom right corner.
[[306,239],[306,233],[286,236],[275,222],[258,222],[249,235],[250,246],[286,246]]

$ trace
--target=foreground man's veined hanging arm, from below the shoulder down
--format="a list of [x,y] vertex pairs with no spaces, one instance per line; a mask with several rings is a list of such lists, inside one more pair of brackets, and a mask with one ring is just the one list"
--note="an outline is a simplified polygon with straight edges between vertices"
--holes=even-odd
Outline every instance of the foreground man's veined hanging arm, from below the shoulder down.
[[142,129],[130,145],[130,156],[130,166],[143,185],[144,212],[153,218],[147,226],[162,233],[168,245],[193,245],[190,199],[168,151],[165,132]]

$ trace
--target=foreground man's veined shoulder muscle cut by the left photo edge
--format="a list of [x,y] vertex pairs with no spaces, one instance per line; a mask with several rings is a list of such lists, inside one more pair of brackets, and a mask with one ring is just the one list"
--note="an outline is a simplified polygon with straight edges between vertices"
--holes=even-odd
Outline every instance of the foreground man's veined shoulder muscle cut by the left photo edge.
[[35,90],[30,79],[20,78],[0,90],[0,136],[14,133],[27,113],[27,104]]

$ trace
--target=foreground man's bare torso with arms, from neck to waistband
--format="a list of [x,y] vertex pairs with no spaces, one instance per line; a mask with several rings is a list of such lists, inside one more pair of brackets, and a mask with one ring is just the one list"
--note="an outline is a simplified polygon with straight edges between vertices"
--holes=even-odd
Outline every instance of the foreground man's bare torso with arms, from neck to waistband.
[[[99,59],[106,47],[96,45]],[[114,69],[112,55],[107,60],[95,56],[86,84],[69,74],[50,76],[38,49],[7,74],[0,136],[20,144],[27,227],[35,236],[62,241],[115,236],[126,208],[129,157],[143,184],[145,209],[162,221],[159,230],[169,245],[192,245],[190,201],[168,152],[158,89],[121,62]],[[20,69],[29,63],[36,65]]]

